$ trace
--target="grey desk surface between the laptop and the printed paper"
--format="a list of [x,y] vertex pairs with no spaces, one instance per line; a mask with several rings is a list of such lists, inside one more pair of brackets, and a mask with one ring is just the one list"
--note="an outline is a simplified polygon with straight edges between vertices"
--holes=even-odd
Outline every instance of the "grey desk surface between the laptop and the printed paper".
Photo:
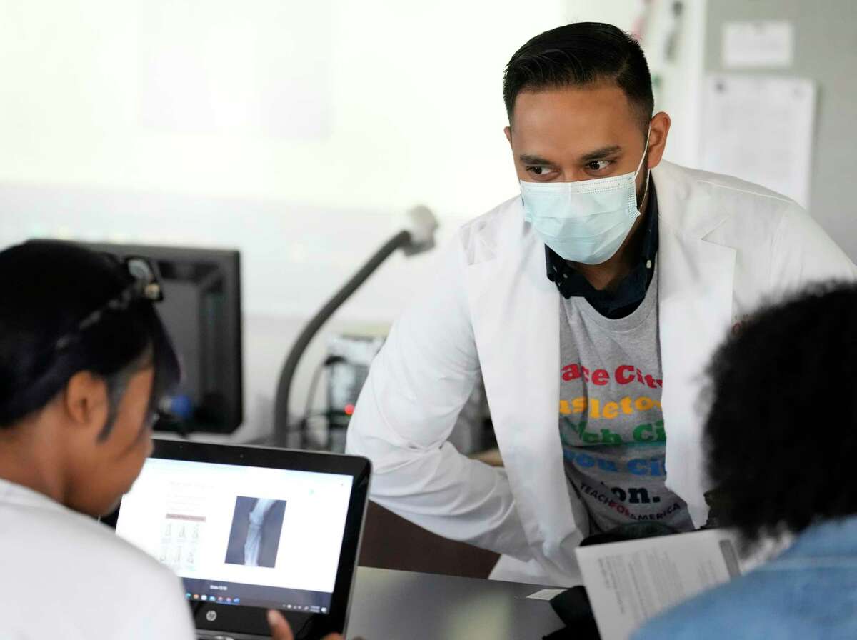
[[563,624],[533,584],[357,568],[348,638],[541,640]]

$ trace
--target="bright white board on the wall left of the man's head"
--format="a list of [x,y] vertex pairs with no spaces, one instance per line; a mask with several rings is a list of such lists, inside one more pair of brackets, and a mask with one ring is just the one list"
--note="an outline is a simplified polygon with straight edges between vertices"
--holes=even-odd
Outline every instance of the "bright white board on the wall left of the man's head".
[[[372,212],[420,200],[445,216],[513,192],[503,65],[563,15],[560,0],[538,11],[488,0],[3,0],[0,9],[0,127],[14,150],[0,157],[6,180]],[[289,56],[268,58],[294,38]],[[276,108],[302,126],[278,131]]]

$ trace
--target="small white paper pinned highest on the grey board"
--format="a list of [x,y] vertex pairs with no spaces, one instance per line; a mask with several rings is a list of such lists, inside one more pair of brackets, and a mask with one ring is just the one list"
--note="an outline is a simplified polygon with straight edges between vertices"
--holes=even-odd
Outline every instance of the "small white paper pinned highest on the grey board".
[[794,60],[794,25],[774,20],[726,22],[722,52],[724,67],[790,67]]

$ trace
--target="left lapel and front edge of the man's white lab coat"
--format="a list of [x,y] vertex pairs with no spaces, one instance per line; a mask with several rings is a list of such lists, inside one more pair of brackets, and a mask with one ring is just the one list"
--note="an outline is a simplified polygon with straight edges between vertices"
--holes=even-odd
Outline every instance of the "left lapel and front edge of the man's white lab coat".
[[[557,576],[568,575],[588,526],[585,511],[572,512],[560,446],[560,295],[544,277],[542,243],[524,223],[520,199],[503,208],[494,259],[471,264],[467,273],[476,349],[527,539]],[[497,232],[488,230],[486,239]],[[470,241],[488,257],[476,238]]]

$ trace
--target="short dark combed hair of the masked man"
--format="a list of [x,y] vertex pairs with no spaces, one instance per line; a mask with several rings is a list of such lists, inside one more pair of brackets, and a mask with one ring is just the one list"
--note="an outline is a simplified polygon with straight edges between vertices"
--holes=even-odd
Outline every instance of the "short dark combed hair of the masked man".
[[515,51],[506,64],[503,99],[509,122],[522,91],[584,87],[603,81],[615,82],[625,92],[646,131],[655,99],[649,65],[637,40],[602,22],[574,22],[541,33]]

